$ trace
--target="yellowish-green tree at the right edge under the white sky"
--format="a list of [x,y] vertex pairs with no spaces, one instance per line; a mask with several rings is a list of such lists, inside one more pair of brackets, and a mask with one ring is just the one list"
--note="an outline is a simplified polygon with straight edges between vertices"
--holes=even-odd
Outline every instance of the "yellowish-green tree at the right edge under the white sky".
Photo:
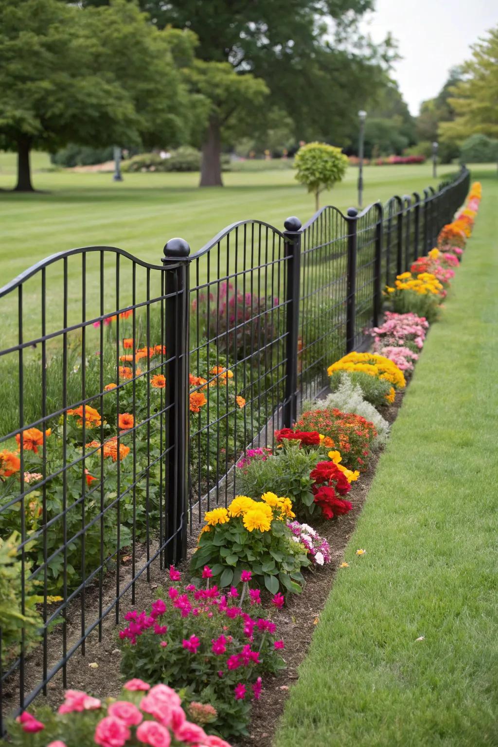
[[450,90],[455,120],[440,125],[443,137],[457,142],[474,133],[498,136],[498,26],[472,50],[463,79]]

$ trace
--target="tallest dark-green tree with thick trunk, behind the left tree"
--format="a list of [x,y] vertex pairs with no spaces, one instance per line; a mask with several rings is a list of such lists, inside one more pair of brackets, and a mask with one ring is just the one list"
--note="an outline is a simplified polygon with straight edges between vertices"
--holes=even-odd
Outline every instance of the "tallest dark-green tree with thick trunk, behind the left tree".
[[[357,28],[373,0],[140,0],[140,7],[158,28],[194,31],[202,61],[262,78],[271,92],[267,106],[290,116],[296,140],[343,142],[379,80],[379,55]],[[234,114],[239,123],[244,117]],[[251,119],[260,123],[261,111]],[[221,137],[221,123],[211,120],[202,150],[212,184],[221,183],[214,166]]]

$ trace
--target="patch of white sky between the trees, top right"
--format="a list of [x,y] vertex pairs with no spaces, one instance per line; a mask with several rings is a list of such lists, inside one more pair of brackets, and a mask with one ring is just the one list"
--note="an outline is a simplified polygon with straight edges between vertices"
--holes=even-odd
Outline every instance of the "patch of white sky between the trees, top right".
[[470,45],[498,24],[498,0],[376,0],[361,24],[376,42],[393,34],[402,60],[393,78],[418,114],[420,102],[436,96],[449,68],[470,57]]

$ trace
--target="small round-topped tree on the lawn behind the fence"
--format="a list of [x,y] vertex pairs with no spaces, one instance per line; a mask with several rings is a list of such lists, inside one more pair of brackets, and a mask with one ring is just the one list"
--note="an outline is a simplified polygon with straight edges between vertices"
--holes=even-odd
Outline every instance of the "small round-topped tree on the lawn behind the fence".
[[320,192],[342,181],[347,167],[348,159],[341,149],[326,143],[308,143],[294,158],[296,179],[314,194],[317,210]]

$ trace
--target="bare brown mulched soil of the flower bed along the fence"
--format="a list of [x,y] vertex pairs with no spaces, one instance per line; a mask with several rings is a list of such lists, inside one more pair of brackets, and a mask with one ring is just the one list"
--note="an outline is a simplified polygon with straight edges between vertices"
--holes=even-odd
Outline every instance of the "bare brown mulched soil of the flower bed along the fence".
[[[397,392],[393,405],[382,412],[383,417],[390,423],[396,419],[402,403],[403,394],[404,392]],[[308,652],[314,628],[320,619],[320,612],[329,596],[335,574],[340,568],[341,562],[343,562],[346,545],[355,530],[356,521],[358,521],[365,500],[367,500],[367,494],[376,471],[379,456],[380,453],[374,457],[367,472],[361,475],[361,479],[357,483],[352,483],[352,489],[348,493],[348,500],[353,505],[352,511],[337,521],[322,521],[320,524],[315,525],[318,533],[329,542],[332,552],[332,562],[316,571],[305,571],[305,592],[301,595],[290,595],[286,606],[278,613],[278,636],[281,636],[285,641],[284,660],[287,664],[287,669],[281,672],[278,677],[267,676],[267,678],[264,678],[264,697],[261,701],[256,702],[252,709],[249,737],[243,740],[232,741],[234,746],[249,747],[258,745],[258,747],[270,747],[284,710],[288,691],[298,678],[299,664],[302,663]],[[194,524],[196,523],[194,521]],[[189,541],[188,557],[183,569],[187,568],[195,545],[196,527],[193,527],[193,536]],[[153,551],[153,548],[151,548],[151,551]],[[144,562],[145,557],[140,559],[137,557],[137,568],[140,568],[140,561]],[[119,574],[121,588],[124,588],[126,583],[131,580],[130,566],[130,562],[125,562],[121,566]],[[145,573],[137,580],[135,585],[135,607],[140,609],[146,608],[154,598],[155,589],[161,584],[167,583],[164,571],[161,571],[159,568],[158,560],[150,566],[150,582],[147,583]],[[112,604],[115,598],[114,584],[115,580],[113,583],[109,583],[107,579],[105,581],[103,589],[104,609],[108,604]],[[122,620],[125,610],[130,609],[130,607],[131,591],[122,597],[120,603],[120,620]],[[87,589],[85,615],[87,624],[90,624],[93,619],[97,619],[99,616],[98,588]],[[67,648],[70,648],[72,643],[77,641],[81,634],[81,607],[79,602],[72,604],[69,608],[67,620]],[[77,651],[69,658],[66,667],[67,687],[84,689],[100,697],[116,696],[119,694],[121,689],[119,672],[121,657],[117,646],[117,630],[119,628],[116,628],[115,613],[111,612],[102,622],[102,640],[99,642],[99,634],[96,629],[87,638],[85,655],[81,656]],[[49,669],[60,658],[61,646],[62,626],[57,626],[48,636]],[[31,688],[37,686],[42,678],[42,657],[43,651],[41,647],[28,657],[25,668],[25,692],[29,692]],[[56,707],[63,701],[64,689],[66,687],[63,684],[62,672],[59,672],[47,685],[46,698],[40,695],[37,698],[36,704],[49,704],[52,707]],[[5,684],[3,698],[7,711],[11,711],[17,707],[19,698],[19,679],[17,676],[12,676]]]

